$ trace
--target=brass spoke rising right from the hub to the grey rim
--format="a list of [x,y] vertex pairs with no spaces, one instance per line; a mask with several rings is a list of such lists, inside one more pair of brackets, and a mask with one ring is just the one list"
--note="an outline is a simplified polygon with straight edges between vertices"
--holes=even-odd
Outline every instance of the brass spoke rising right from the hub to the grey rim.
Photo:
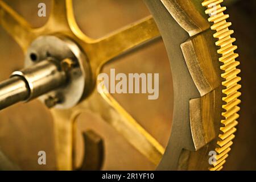
[[159,36],[160,33],[154,19],[148,16],[89,44],[88,57],[92,64],[96,64],[96,67],[99,68],[114,57]]

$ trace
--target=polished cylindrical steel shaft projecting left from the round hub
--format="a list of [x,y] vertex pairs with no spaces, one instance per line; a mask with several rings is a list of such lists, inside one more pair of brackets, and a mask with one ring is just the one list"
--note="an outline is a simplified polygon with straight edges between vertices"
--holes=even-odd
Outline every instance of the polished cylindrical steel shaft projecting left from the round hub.
[[65,72],[52,60],[43,60],[16,71],[9,80],[0,83],[0,110],[20,101],[32,100],[64,85]]

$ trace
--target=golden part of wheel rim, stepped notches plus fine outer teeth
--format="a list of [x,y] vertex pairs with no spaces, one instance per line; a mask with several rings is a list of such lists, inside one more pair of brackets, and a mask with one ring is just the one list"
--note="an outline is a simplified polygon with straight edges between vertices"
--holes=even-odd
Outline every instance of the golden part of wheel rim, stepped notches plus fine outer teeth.
[[[162,0],[162,2],[176,22],[191,37],[181,43],[181,49],[189,73],[201,96],[190,98],[189,101],[189,122],[194,149],[182,148],[177,162],[178,169],[209,168],[207,154],[212,150],[218,155],[217,163],[210,169],[222,169],[222,164],[225,163],[228,155],[227,151],[232,145],[233,133],[236,131],[234,126],[237,122],[234,120],[238,118],[236,113],[240,108],[237,105],[241,102],[237,99],[241,95],[237,91],[241,88],[237,84],[241,80],[237,77],[240,70],[236,69],[239,64],[235,60],[238,54],[234,53],[237,47],[232,44],[236,39],[230,37],[233,34],[233,31],[228,29],[231,23],[226,22],[229,16],[223,14],[226,8],[221,7],[222,0],[203,2],[203,6],[211,6],[205,11],[206,14],[210,14],[208,22],[205,13],[201,12],[202,1]],[[210,22],[214,24],[210,26]],[[209,28],[217,32],[212,36]],[[216,44],[213,38],[218,38]],[[220,49],[217,50],[218,46]],[[220,62],[216,61],[217,53],[222,54]],[[223,125],[224,122],[226,125]],[[219,130],[221,134],[218,134]]]

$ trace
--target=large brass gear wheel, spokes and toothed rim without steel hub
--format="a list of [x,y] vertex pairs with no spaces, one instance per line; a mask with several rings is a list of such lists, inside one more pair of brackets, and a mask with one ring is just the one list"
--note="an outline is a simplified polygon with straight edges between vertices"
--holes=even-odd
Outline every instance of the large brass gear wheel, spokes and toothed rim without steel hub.
[[[81,32],[73,15],[71,0],[52,2],[52,14],[46,25],[32,28],[26,20],[0,1],[0,24],[13,36],[23,52],[27,51],[28,46],[38,36],[68,36],[86,53],[95,86],[95,76],[100,73],[106,62],[161,34],[167,52],[172,53],[175,58],[171,60],[172,72],[176,75],[175,94],[184,94],[175,96],[175,122],[166,150],[110,94],[100,95],[95,88],[88,98],[72,109],[51,109],[55,123],[58,169],[73,169],[76,118],[85,109],[98,112],[152,163],[158,165],[160,162],[159,169],[209,169],[208,152],[212,150],[218,155],[217,163],[213,164],[210,170],[222,169],[232,145],[233,133],[236,131],[236,119],[239,117],[237,111],[240,109],[237,106],[240,104],[238,97],[241,94],[237,91],[241,88],[241,85],[237,84],[241,80],[237,77],[240,70],[236,69],[239,64],[235,60],[238,54],[234,53],[237,47],[232,44],[235,39],[230,37],[233,31],[228,29],[228,15],[223,14],[225,7],[220,6],[223,0],[202,3],[203,6],[217,7],[209,7],[205,12],[217,14],[208,19],[209,22],[214,22],[211,28],[217,31],[214,34],[214,37],[219,39],[216,46],[221,47],[217,52],[213,52],[217,48],[213,44],[213,38],[210,38],[212,32],[208,30],[209,22],[201,13],[201,0],[145,0],[154,19],[150,16],[101,39],[88,38]],[[130,41],[125,41],[126,38]],[[174,50],[174,46],[179,49]],[[224,64],[221,66],[214,61],[217,60],[217,53],[222,54],[219,60]],[[224,72],[221,73],[219,68]],[[183,82],[188,86],[182,85]],[[222,96],[221,92],[225,96]],[[225,104],[222,104],[221,98]],[[220,115],[221,108],[225,109],[222,112],[224,118]],[[218,135],[219,130],[221,134]]]

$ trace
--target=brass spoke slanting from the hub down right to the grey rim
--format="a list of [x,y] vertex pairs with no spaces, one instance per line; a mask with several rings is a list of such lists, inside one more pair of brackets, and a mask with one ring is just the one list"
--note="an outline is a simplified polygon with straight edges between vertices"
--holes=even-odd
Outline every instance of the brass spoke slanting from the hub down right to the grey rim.
[[[158,164],[164,148],[110,94],[97,90],[76,110],[90,110],[100,116],[118,131],[133,147],[146,156],[152,163]],[[79,113],[79,110],[77,110]]]

